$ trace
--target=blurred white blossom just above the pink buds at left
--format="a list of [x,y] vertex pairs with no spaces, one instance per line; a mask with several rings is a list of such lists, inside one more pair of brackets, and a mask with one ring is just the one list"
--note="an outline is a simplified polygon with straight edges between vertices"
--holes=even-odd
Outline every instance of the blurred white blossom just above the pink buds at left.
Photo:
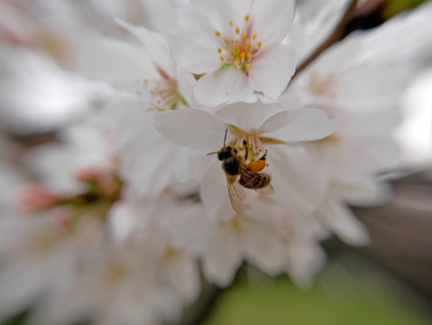
[[63,194],[85,189],[83,180],[90,177],[89,172],[96,178],[113,172],[117,153],[112,141],[89,122],[81,121],[63,129],[60,143],[40,145],[26,153],[23,161],[28,170],[46,186]]

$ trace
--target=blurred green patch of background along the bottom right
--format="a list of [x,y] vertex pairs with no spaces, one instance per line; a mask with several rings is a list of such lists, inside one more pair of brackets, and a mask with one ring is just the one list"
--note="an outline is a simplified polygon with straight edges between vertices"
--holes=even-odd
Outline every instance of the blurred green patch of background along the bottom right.
[[224,292],[204,324],[432,324],[427,304],[364,261],[331,262],[309,290],[296,287],[287,277],[254,277],[243,278]]

